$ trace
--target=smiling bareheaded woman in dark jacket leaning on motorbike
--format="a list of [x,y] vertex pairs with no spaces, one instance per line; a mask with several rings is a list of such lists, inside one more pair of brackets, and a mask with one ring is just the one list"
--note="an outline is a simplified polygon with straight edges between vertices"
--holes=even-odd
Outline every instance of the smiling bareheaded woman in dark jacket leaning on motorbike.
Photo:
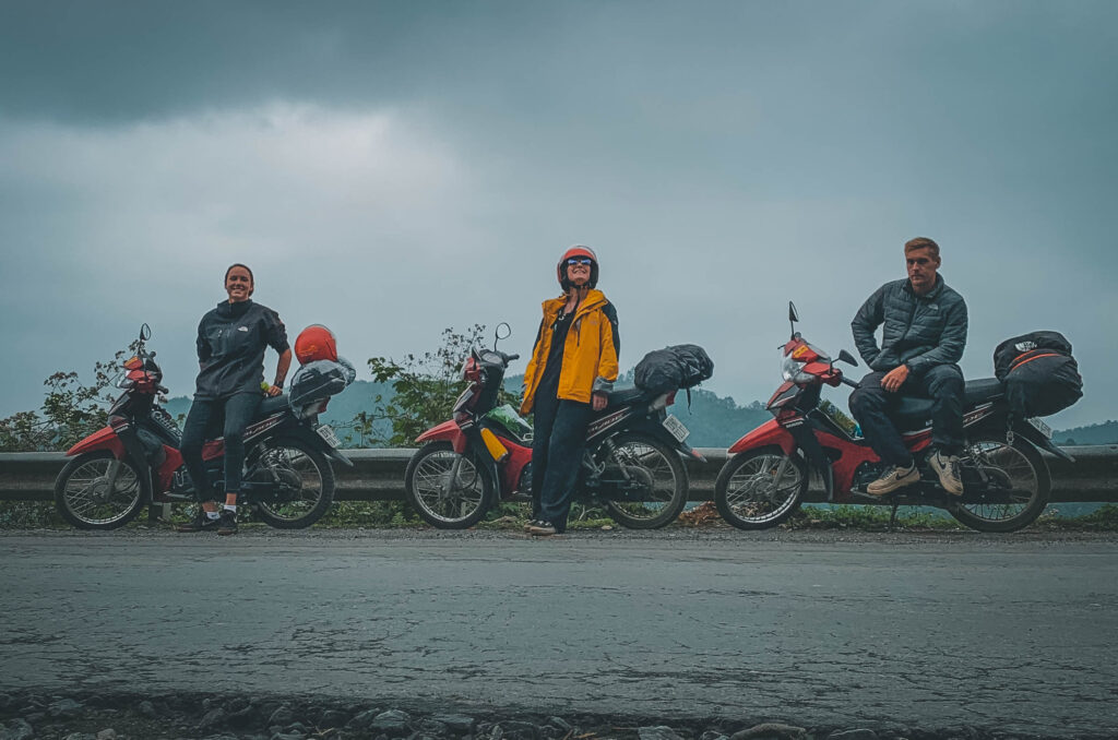
[[[182,459],[195,484],[201,510],[180,532],[216,529],[218,534],[237,533],[237,493],[245,462],[245,427],[256,415],[263,398],[264,351],[280,353],[275,382],[268,396],[283,392],[283,381],[291,366],[287,331],[280,315],[254,303],[253,271],[236,264],[225,271],[228,300],[202,316],[198,324],[198,364],[200,372],[195,401],[182,429]],[[206,476],[202,444],[210,419],[225,414],[225,506],[218,513],[217,497]]]

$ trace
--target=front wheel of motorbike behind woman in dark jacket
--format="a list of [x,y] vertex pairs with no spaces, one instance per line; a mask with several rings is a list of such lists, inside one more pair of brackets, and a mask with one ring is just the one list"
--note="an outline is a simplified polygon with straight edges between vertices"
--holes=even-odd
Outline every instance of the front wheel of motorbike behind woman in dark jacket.
[[[115,471],[114,471],[115,468]],[[131,522],[151,500],[151,481],[107,449],[73,458],[55,478],[55,507],[82,530],[114,530]]]

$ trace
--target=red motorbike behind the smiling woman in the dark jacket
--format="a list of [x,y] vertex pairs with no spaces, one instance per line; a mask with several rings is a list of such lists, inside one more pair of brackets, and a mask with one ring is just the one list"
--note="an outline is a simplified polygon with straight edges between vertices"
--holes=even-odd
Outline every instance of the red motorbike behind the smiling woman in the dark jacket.
[[[155,353],[145,349],[144,324],[134,357],[124,362],[115,385],[124,392],[108,409],[108,425],[70,447],[72,457],[55,480],[55,505],[74,526],[110,530],[130,522],[152,502],[195,500],[195,486],[179,453],[181,433],[159,405],[168,392]],[[245,429],[245,472],[239,503],[280,529],[316,522],[333,502],[330,459],[352,467],[337,447],[334,430],[319,424],[329,397],[293,409],[286,396],[265,398]],[[215,419],[219,429],[220,419]],[[208,442],[202,459],[218,494],[224,492],[225,444]]]

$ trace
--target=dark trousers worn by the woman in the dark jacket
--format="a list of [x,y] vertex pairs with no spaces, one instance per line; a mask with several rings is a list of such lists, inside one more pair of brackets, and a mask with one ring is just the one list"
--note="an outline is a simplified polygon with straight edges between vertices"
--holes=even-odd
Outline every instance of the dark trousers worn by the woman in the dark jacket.
[[[206,465],[202,463],[202,445],[207,433],[217,431],[220,417],[225,414],[225,490],[229,493],[240,491],[240,468],[245,464],[245,427],[253,420],[263,397],[259,393],[237,393],[219,400],[199,400],[190,405],[187,423],[182,426],[182,461],[190,472],[195,484],[197,501],[214,501],[214,491],[206,477]],[[211,437],[216,434],[209,435]]]

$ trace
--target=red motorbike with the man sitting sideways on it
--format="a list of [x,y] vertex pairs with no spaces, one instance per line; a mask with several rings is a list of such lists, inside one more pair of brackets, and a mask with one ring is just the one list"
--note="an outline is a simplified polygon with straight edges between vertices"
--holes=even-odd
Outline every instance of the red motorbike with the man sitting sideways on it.
[[[963,524],[985,532],[1012,532],[1032,523],[1048,504],[1051,475],[1039,448],[1071,459],[1051,442],[1052,430],[1040,419],[1011,423],[1002,382],[996,378],[966,382],[964,431],[959,458],[963,495],[949,495],[925,457],[931,444],[930,399],[902,397],[891,417],[920,467],[921,481],[878,497],[865,486],[884,473],[878,455],[856,425],[819,399],[823,386],[858,388],[823,350],[796,331],[799,316],[788,304],[792,339],[784,345],[784,380],[768,401],[773,418],[729,449],[714,483],[714,503],[726,521],[739,529],[776,526],[798,509],[808,477],[822,478],[826,501],[938,506]],[[839,361],[858,366],[849,352]]]

